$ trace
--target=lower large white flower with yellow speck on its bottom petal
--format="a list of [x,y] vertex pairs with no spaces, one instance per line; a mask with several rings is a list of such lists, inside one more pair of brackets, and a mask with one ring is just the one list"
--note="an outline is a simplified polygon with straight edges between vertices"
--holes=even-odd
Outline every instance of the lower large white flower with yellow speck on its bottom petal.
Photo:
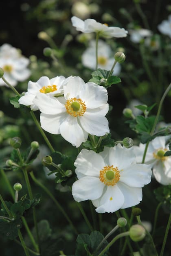
[[114,212],[137,205],[142,187],[151,181],[151,169],[136,164],[134,149],[118,144],[99,154],[82,149],[75,161],[78,180],[72,185],[77,202],[92,200],[96,212]]

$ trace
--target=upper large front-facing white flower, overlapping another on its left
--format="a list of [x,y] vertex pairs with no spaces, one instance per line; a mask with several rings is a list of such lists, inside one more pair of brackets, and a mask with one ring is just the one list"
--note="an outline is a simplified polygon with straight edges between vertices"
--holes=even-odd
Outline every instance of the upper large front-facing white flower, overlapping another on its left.
[[40,123],[45,131],[61,136],[79,147],[88,134],[103,136],[109,133],[107,90],[80,77],[71,77],[64,84],[64,97],[47,97],[39,93],[33,100],[42,112]]

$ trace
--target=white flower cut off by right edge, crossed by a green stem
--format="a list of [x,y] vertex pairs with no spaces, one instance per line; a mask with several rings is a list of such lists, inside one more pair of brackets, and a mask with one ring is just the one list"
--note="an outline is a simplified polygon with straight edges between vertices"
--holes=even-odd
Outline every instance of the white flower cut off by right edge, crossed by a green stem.
[[[171,185],[171,157],[164,156],[165,152],[169,150],[168,145],[165,145],[167,138],[160,136],[149,142],[145,157],[145,163],[153,167],[153,175],[162,185]],[[139,147],[134,146],[137,163],[142,162],[144,150],[145,144],[140,143]]]

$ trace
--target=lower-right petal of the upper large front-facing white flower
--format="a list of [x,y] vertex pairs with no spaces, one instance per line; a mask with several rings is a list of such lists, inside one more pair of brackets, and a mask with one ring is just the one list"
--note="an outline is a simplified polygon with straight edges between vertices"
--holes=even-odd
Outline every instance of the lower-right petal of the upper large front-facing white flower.
[[92,114],[88,111],[79,117],[81,127],[91,135],[103,136],[109,133],[109,123],[105,116]]

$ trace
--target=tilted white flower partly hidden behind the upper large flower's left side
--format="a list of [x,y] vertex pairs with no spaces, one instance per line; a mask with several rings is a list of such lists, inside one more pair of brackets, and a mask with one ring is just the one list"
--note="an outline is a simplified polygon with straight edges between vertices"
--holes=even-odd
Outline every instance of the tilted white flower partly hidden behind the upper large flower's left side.
[[30,106],[31,110],[39,108],[33,103],[37,93],[45,93],[50,96],[59,96],[64,93],[63,82],[66,80],[64,76],[57,76],[49,79],[47,76],[42,76],[37,82],[29,81],[28,91],[22,96],[18,102],[25,106]]

